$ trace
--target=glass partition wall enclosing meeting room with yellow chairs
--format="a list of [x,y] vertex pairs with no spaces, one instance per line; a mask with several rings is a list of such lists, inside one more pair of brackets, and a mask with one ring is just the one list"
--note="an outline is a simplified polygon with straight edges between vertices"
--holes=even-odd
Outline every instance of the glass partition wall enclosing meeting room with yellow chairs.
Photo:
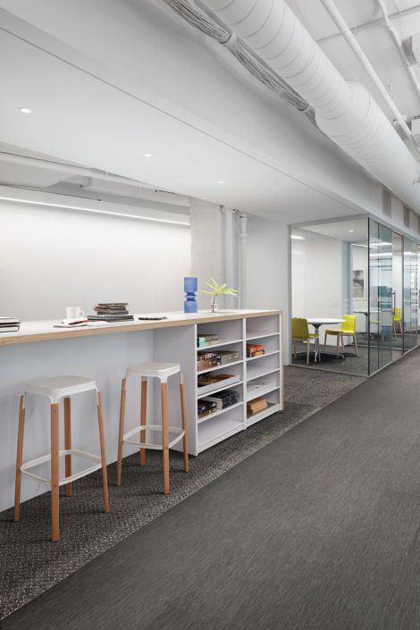
[[417,345],[420,246],[373,219],[292,228],[292,364],[374,374]]

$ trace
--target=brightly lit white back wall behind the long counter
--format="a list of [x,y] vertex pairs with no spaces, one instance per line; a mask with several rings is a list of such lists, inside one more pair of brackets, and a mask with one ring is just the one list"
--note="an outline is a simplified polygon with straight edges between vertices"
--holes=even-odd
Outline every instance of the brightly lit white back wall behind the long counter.
[[22,320],[91,314],[98,301],[128,301],[133,313],[182,310],[189,275],[186,227],[0,206],[0,314]]

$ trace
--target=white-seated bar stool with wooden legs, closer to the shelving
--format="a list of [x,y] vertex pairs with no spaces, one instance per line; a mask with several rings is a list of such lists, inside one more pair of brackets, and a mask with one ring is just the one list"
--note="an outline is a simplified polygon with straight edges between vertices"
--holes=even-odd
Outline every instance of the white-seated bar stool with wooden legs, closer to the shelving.
[[[180,374],[180,396],[181,396],[181,424],[182,426],[170,426],[168,417],[168,378],[172,374]],[[140,401],[140,422],[139,426],[124,433],[125,420],[125,399],[126,382],[129,376],[136,376],[141,380],[141,401]],[[158,378],[161,382],[162,399],[162,424],[147,424],[147,378]],[[162,441],[160,444],[146,441],[146,431],[152,429],[160,431]],[[140,433],[139,441],[130,438],[136,433]],[[170,433],[174,435],[169,441]],[[120,407],[120,433],[118,441],[118,467],[117,485],[121,485],[122,478],[122,445],[135,444],[140,447],[140,466],[146,464],[146,449],[163,451],[164,460],[164,494],[169,493],[169,449],[179,441],[183,441],[182,449],[184,456],[184,470],[189,472],[189,454],[187,444],[187,407],[185,402],[184,377],[181,366],[177,363],[140,363],[127,368],[125,378],[122,379],[121,407]]]

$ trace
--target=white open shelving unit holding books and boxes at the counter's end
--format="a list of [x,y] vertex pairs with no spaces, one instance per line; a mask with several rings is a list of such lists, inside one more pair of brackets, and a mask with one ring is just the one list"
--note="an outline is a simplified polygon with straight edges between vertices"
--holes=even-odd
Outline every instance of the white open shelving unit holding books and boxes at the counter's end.
[[[218,334],[217,344],[197,348],[197,335]],[[247,341],[265,345],[265,355],[247,359]],[[239,352],[239,359],[228,365],[217,365],[197,371],[197,352],[214,349],[232,349]],[[185,374],[187,417],[189,429],[189,453],[198,455],[203,450],[226,440],[239,431],[244,431],[267,416],[283,408],[283,366],[281,361],[281,315],[239,315],[225,321],[195,323],[182,326],[174,335],[173,330],[159,331],[154,341],[155,360],[181,363]],[[215,387],[213,391],[200,393],[197,376],[207,372],[235,374],[239,381]],[[265,379],[265,381],[264,381]],[[265,386],[256,385],[265,382]],[[239,392],[239,402],[231,407],[198,418],[197,400],[223,390]],[[176,378],[169,380],[171,424],[181,424],[179,413],[179,389]],[[247,402],[259,396],[268,400],[269,407],[254,416],[247,416]],[[160,399],[155,391],[155,408],[159,409]],[[176,449],[181,449],[176,446]]]

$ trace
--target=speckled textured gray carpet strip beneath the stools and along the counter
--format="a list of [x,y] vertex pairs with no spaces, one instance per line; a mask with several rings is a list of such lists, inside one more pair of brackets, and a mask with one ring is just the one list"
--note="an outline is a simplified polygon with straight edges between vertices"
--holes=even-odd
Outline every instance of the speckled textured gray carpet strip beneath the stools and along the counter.
[[[148,457],[147,467],[142,470],[139,470],[137,455],[124,460],[122,488],[113,485],[115,466],[109,466],[112,505],[109,515],[103,512],[100,474],[89,475],[74,483],[71,499],[63,497],[61,501],[62,538],[58,544],[49,542],[49,493],[23,504],[19,524],[13,523],[12,510],[6,510],[0,515],[1,616],[18,609],[96,559],[363,380],[341,374],[326,376],[320,372],[286,368],[286,410],[208,449],[198,458],[191,458],[189,475],[181,471],[181,457],[173,454],[172,492],[169,496],[164,497],[160,492],[161,456],[153,451]],[[172,533],[167,534],[170,539]],[[143,560],[140,564],[143,565]],[[136,581],[137,577],[133,579]],[[95,584],[96,579],[92,585]],[[34,605],[38,606],[38,603]],[[72,603],[71,608],[73,606]],[[64,609],[67,609],[67,603]],[[26,613],[22,611],[22,614]],[[64,622],[58,626],[53,622],[52,626],[41,626],[39,623],[31,627],[59,627],[60,630],[67,627]],[[4,624],[7,625],[2,628],[25,627],[20,625],[21,621],[15,615],[8,617]],[[81,624],[74,627],[101,626]]]

